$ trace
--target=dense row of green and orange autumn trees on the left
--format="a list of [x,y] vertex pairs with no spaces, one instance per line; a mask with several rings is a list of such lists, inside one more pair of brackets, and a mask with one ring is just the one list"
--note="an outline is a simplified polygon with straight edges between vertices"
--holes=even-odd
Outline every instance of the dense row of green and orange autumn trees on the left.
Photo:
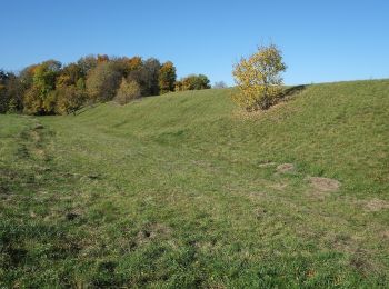
[[174,64],[156,58],[98,54],[66,66],[48,60],[19,73],[0,70],[0,113],[69,114],[96,102],[124,104],[140,97],[210,87],[203,74],[177,80]]

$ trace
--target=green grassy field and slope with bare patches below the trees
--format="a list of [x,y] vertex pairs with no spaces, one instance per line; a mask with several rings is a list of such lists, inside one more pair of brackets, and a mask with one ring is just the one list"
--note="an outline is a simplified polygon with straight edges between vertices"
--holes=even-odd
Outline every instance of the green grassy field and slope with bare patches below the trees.
[[231,92],[0,116],[0,287],[388,286],[389,81]]

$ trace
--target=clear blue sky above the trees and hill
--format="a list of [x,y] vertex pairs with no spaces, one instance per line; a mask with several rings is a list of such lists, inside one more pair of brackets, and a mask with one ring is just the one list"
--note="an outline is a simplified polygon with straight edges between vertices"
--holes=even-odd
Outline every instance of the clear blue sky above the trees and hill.
[[137,54],[232,84],[232,64],[272,41],[289,84],[389,77],[388,0],[0,0],[0,9],[7,70]]

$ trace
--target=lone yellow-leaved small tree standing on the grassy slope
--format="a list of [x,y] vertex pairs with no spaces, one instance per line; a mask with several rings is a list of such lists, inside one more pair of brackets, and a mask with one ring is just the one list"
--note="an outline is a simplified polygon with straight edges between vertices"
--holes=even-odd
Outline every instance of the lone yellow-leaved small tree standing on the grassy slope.
[[247,111],[268,109],[282,92],[280,73],[286,69],[275,44],[259,47],[256,53],[235,64],[232,74],[239,92],[232,100]]

